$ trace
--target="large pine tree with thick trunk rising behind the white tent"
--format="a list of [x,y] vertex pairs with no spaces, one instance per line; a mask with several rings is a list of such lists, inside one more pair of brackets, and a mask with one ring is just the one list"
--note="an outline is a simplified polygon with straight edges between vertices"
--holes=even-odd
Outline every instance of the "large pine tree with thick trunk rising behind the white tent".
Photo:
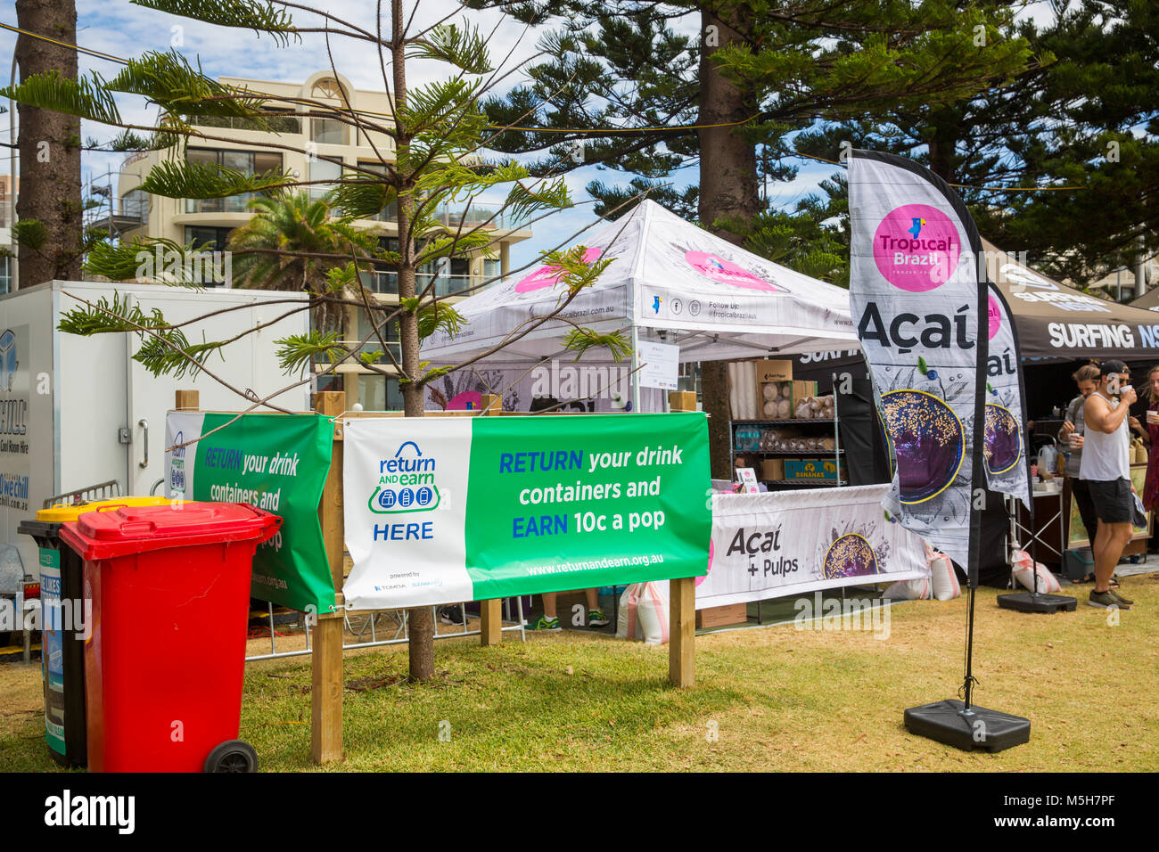
[[[796,176],[786,162],[793,136],[821,119],[953,102],[1006,85],[1033,61],[1025,39],[1000,37],[1013,12],[993,0],[476,1],[561,26],[545,44],[554,58],[487,104],[497,125],[542,130],[506,131],[496,147],[539,154],[531,168],[541,174],[580,163],[633,174],[633,191],[838,282],[840,240],[818,218],[823,207],[764,210],[763,182]],[[699,37],[676,31],[676,21],[697,15]],[[665,183],[691,166],[695,191]],[[621,198],[600,182],[588,191],[605,206]],[[730,476],[723,367],[706,364],[702,378],[705,408],[716,415],[714,475]]]

